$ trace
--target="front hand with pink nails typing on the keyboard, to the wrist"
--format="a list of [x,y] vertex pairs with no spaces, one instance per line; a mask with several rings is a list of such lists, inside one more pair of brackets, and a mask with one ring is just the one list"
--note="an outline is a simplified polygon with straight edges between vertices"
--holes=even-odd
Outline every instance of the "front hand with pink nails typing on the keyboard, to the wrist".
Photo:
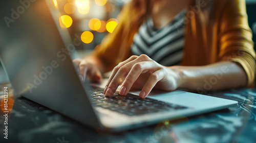
[[175,90],[180,85],[180,78],[171,67],[160,65],[146,55],[140,55],[130,57],[113,69],[104,89],[105,96],[111,97],[120,84],[119,94],[125,96],[131,88],[139,88],[139,97],[145,98],[153,87]]

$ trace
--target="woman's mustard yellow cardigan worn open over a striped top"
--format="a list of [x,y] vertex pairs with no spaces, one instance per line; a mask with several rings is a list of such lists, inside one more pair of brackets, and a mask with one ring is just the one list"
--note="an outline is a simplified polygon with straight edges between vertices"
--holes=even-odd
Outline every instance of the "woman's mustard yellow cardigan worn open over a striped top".
[[[109,71],[129,58],[133,37],[149,13],[150,1],[136,0],[124,6],[118,26],[97,45],[98,56]],[[200,66],[219,61],[241,64],[247,86],[254,84],[255,52],[244,0],[191,0],[185,15],[185,46],[181,65]],[[236,78],[236,77],[234,77]]]

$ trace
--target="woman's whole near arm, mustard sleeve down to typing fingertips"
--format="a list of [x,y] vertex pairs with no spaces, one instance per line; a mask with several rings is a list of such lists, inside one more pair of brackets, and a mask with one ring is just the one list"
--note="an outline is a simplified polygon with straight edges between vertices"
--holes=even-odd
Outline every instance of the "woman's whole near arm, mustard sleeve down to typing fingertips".
[[252,84],[255,52],[245,2],[225,1],[225,4],[217,22],[220,29],[216,37],[219,53],[216,63],[165,67],[146,55],[133,56],[114,68],[104,90],[106,96],[112,96],[118,85],[121,85],[119,94],[126,95],[132,87],[137,87],[141,89],[140,97],[145,98],[153,88],[175,90],[183,87],[203,93]]

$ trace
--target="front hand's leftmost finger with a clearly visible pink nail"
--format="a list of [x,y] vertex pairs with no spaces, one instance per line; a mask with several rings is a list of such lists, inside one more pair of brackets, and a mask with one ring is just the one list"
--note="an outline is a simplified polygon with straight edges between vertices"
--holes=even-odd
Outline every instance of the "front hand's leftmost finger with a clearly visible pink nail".
[[134,64],[141,62],[141,61],[148,61],[148,60],[152,60],[152,59],[150,59],[146,55],[141,55],[141,56],[137,57],[135,60],[132,60],[132,61],[124,64],[123,66],[121,66],[118,69],[117,73],[115,74],[114,78],[111,80],[110,84],[107,85],[108,87],[106,86],[107,88],[105,88],[106,89],[105,96],[107,96],[107,97],[112,96],[112,94],[116,91],[118,86],[123,82],[125,77],[129,74],[129,72]]

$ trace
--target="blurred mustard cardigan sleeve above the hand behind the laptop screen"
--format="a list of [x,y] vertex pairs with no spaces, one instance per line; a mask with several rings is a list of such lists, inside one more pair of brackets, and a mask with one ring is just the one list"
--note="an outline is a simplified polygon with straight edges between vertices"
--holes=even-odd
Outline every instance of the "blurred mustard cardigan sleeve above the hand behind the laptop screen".
[[118,25],[113,33],[107,34],[95,47],[92,54],[103,61],[105,72],[132,56],[133,37],[143,22],[147,3],[147,0],[139,0],[124,5],[117,17]]

